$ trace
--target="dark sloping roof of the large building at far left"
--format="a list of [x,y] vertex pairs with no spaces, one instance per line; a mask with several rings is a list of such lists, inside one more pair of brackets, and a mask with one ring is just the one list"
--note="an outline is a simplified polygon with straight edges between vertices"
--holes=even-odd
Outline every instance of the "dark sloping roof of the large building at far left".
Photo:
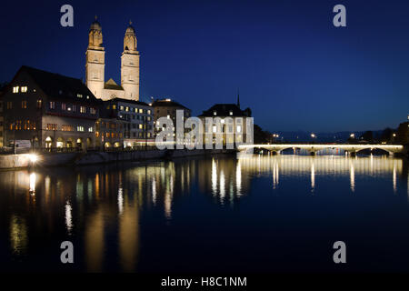
[[[35,84],[43,90],[45,95],[51,98],[67,99],[71,102],[76,101],[85,104],[98,102],[95,95],[92,94],[80,79],[46,72],[26,65],[23,65],[16,75],[22,71],[30,75],[35,81]],[[78,94],[83,97],[79,98],[77,96]]]

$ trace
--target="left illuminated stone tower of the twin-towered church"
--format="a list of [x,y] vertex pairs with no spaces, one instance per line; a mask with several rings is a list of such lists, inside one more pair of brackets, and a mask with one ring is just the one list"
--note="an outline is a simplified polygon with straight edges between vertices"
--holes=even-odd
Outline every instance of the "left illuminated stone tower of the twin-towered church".
[[85,55],[85,85],[95,97],[101,98],[105,80],[105,50],[102,27],[96,20],[96,16],[89,29],[88,48]]

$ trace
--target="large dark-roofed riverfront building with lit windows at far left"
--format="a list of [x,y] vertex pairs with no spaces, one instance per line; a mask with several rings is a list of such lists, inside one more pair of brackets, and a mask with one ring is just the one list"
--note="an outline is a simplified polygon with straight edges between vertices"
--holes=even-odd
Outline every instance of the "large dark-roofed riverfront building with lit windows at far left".
[[5,146],[95,146],[97,100],[80,79],[22,66],[3,94]]

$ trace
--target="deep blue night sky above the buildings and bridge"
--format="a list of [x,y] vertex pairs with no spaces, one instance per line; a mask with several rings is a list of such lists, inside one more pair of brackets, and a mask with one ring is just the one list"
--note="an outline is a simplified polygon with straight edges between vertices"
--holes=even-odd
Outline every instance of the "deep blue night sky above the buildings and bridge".
[[[59,25],[74,6],[75,26]],[[333,7],[347,27],[332,25]],[[120,83],[128,21],[141,52],[141,96],[200,114],[214,103],[253,110],[265,129],[396,127],[409,113],[409,1],[7,1],[0,9],[0,81],[21,65],[82,78],[98,15],[105,81]]]

